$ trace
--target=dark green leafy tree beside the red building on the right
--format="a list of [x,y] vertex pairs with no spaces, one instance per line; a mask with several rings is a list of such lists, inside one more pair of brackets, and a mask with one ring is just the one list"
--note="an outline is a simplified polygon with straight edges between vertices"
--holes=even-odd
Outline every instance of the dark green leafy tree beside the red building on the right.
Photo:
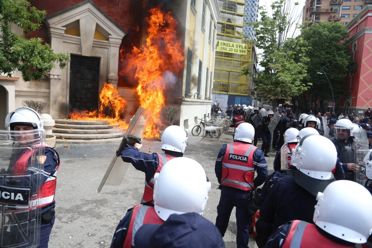
[[318,72],[324,70],[330,80],[334,99],[340,99],[346,94],[343,80],[346,73],[356,68],[356,62],[344,43],[348,36],[345,26],[340,22],[314,23],[302,33],[301,46],[310,59],[303,82],[312,82],[305,93],[311,95],[312,99],[320,100],[321,112],[324,112],[324,101],[332,100],[332,95],[327,77]]

